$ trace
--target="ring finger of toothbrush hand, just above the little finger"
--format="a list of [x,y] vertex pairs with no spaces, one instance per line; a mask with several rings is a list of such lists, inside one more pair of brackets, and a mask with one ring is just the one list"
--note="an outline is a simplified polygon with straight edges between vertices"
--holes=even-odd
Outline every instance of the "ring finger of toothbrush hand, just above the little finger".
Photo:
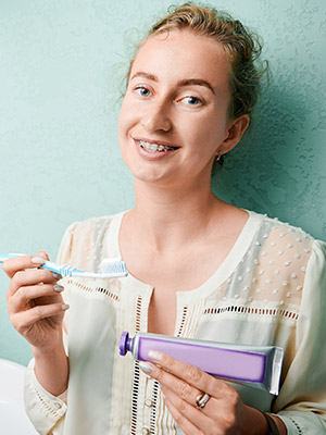
[[15,313],[26,309],[26,306],[32,299],[38,299],[41,297],[51,296],[49,302],[62,302],[61,293],[64,287],[59,284],[39,284],[36,286],[21,287],[10,298],[8,304],[9,313]]

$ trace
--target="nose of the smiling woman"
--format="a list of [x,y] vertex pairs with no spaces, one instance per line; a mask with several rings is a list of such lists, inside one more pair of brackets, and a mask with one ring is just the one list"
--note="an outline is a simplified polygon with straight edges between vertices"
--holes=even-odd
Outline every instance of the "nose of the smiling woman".
[[168,103],[155,101],[147,108],[141,125],[149,132],[168,132],[172,126]]

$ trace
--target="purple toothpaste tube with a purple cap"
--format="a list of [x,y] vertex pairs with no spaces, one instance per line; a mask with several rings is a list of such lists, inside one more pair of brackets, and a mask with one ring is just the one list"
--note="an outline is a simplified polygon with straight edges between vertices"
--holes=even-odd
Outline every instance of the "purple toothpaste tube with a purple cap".
[[227,381],[244,383],[278,395],[284,350],[276,346],[248,346],[167,335],[137,333],[121,335],[120,355],[130,351],[139,361],[153,362],[150,350],[158,350],[179,361]]

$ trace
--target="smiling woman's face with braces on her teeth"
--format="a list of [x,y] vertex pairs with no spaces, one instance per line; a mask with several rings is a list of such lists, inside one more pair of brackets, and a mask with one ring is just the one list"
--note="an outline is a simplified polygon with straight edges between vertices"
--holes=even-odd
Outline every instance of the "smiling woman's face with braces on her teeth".
[[134,61],[118,121],[136,179],[161,186],[209,181],[229,147],[230,64],[223,48],[189,29],[150,37]]

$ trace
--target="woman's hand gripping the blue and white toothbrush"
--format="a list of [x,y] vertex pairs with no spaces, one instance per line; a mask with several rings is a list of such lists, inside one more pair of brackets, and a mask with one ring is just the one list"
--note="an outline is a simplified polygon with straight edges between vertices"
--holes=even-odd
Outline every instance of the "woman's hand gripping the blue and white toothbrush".
[[[39,261],[37,261],[37,259]],[[3,262],[11,278],[7,293],[8,312],[13,327],[35,348],[42,351],[62,341],[64,304],[60,275],[41,269],[45,251],[37,257],[22,256]]]

